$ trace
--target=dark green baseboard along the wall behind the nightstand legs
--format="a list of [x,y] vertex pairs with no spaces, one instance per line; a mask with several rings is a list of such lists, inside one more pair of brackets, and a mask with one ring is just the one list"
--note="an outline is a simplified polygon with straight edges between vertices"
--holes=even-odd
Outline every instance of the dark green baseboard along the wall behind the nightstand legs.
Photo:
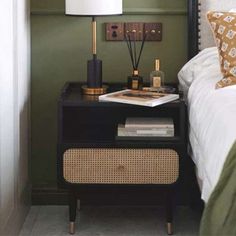
[[[178,191],[175,196],[177,205],[188,204],[188,193]],[[56,187],[37,187],[32,189],[32,205],[67,205],[69,199],[67,190],[57,189]],[[78,198],[81,205],[86,206],[106,206],[106,205],[163,205],[163,189],[160,188],[140,188],[136,187],[131,190],[113,189],[93,189],[80,192]]]

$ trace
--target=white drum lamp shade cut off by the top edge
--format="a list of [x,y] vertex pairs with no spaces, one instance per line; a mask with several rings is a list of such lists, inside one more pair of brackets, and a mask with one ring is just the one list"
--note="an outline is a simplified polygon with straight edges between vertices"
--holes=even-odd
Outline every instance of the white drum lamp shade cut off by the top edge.
[[120,15],[122,12],[122,0],[66,0],[68,15]]

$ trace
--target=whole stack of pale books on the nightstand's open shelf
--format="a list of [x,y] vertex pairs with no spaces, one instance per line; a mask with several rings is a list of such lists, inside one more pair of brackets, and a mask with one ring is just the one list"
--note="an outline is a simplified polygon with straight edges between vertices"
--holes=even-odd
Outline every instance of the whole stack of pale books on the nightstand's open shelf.
[[125,124],[118,125],[120,137],[174,137],[174,133],[171,118],[129,117]]

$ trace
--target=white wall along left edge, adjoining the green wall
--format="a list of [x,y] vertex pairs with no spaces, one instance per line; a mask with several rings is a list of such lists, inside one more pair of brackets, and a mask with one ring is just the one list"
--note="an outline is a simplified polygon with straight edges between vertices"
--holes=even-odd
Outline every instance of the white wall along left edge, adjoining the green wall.
[[29,207],[28,0],[0,1],[0,235],[17,235]]

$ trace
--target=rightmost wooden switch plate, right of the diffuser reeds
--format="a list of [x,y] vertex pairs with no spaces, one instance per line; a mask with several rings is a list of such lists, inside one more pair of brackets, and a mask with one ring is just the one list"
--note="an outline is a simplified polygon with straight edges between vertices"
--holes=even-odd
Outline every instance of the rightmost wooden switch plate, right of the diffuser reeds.
[[162,41],[162,23],[145,23],[146,41]]

